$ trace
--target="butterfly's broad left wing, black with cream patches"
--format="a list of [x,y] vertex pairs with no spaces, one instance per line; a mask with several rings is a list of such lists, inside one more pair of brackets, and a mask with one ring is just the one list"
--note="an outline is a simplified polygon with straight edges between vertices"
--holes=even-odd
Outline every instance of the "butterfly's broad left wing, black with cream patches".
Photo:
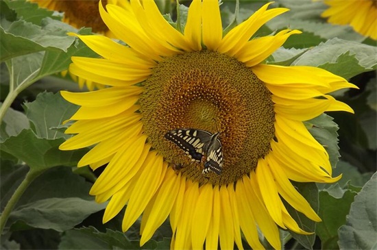
[[202,162],[211,137],[210,132],[201,129],[173,129],[165,134],[165,138],[180,147],[192,162]]

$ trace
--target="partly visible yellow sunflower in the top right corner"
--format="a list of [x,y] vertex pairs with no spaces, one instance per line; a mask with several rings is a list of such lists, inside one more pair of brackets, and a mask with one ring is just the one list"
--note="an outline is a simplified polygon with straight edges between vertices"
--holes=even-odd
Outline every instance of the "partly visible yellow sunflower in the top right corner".
[[321,16],[337,25],[351,25],[356,32],[377,40],[376,0],[324,0],[329,6]]

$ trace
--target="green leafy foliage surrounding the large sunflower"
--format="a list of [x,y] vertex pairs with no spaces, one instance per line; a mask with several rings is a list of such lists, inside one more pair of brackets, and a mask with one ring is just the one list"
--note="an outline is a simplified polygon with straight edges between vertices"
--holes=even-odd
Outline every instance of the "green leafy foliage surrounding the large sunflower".
[[[235,1],[224,1],[224,27],[236,17],[239,23],[266,1],[241,1],[234,16]],[[188,1],[179,6],[186,16]],[[184,5],[185,4],[185,5]],[[175,20],[175,3],[158,1],[167,20]],[[309,131],[326,145],[337,184],[295,184],[317,208],[323,222],[308,221],[290,212],[311,236],[281,231],[285,249],[371,249],[377,244],[376,216],[376,41],[364,38],[348,26],[330,25],[319,15],[326,8],[310,0],[279,0],[274,7],[291,11],[264,25],[256,36],[267,36],[286,27],[300,29],[284,47],[267,60],[270,64],[309,65],[325,68],[356,84],[360,90],[333,95],[354,108],[355,114],[331,112],[306,123]],[[35,3],[0,1],[0,210],[12,200],[19,185],[26,190],[0,221],[1,249],[139,249],[139,221],[123,234],[119,214],[101,223],[106,203],[97,204],[88,195],[99,171],[76,168],[89,149],[59,151],[69,138],[62,125],[77,106],[62,99],[59,90],[85,91],[61,71],[72,55],[97,57],[67,32],[77,31],[62,23],[61,14],[38,9]],[[10,106],[10,108],[8,108]],[[5,112],[6,111],[6,112]],[[330,117],[331,116],[331,117]],[[339,129],[339,127],[340,129]],[[338,147],[339,146],[339,147]],[[339,156],[341,155],[341,158]],[[143,249],[168,249],[171,229],[165,222]],[[268,242],[264,242],[269,248]],[[247,244],[244,245],[247,247]]]

